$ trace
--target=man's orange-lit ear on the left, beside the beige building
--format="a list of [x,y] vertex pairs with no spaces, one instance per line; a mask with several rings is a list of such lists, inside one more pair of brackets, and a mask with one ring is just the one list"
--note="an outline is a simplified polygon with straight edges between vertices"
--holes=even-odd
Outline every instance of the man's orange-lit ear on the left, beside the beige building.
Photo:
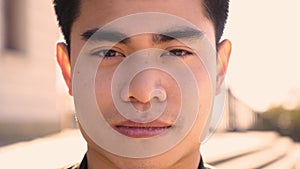
[[65,43],[56,44],[56,59],[64,76],[65,82],[69,88],[69,94],[72,96],[70,57],[68,54],[67,45]]

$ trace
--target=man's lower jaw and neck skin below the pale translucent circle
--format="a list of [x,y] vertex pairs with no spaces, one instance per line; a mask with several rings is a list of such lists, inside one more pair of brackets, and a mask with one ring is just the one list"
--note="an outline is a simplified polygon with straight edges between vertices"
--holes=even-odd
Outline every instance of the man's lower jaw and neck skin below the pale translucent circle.
[[[81,128],[81,127],[80,127]],[[198,165],[200,159],[200,142],[198,139],[189,138],[195,133],[187,136],[187,140],[183,140],[176,145],[173,149],[157,156],[149,158],[126,158],[117,156],[110,152],[105,151],[97,144],[95,144],[88,135],[82,130],[82,135],[88,143],[88,152],[93,154],[95,158],[102,159],[107,162],[108,166],[114,166],[120,169],[173,169],[185,168],[183,164]],[[197,131],[198,132],[198,131]],[[187,162],[187,163],[185,163]]]

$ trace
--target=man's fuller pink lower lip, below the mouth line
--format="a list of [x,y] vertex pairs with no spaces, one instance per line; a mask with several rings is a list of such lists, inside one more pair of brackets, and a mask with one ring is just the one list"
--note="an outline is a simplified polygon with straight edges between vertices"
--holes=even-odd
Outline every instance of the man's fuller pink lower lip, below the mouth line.
[[149,138],[165,133],[170,127],[127,127],[118,126],[116,130],[121,134],[133,138]]

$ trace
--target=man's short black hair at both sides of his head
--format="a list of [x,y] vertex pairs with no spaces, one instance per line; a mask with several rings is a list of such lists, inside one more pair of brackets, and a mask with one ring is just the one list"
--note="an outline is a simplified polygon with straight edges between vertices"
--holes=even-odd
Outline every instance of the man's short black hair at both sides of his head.
[[[54,0],[54,9],[58,24],[66,40],[70,52],[70,33],[73,22],[80,15],[81,0]],[[219,43],[228,17],[229,0],[202,0],[209,18],[215,27],[216,44]]]

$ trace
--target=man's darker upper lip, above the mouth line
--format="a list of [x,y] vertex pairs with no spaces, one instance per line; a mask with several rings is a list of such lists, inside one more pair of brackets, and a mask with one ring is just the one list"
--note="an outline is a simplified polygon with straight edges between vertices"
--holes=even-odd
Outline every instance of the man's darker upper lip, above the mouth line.
[[149,123],[137,123],[130,120],[122,121],[115,125],[116,127],[132,127],[132,128],[162,128],[171,127],[172,124],[155,120]]

